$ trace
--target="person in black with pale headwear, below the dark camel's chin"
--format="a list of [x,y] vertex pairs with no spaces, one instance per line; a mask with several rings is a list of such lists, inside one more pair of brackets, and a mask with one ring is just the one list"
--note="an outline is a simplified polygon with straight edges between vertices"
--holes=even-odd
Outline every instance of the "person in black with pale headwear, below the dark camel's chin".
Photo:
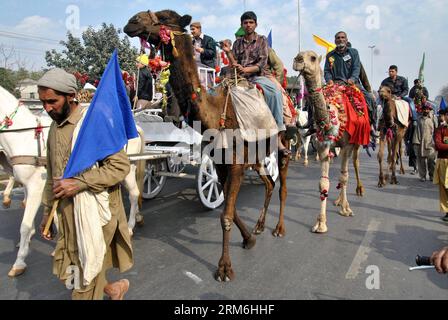
[[137,58],[138,88],[135,99],[137,101],[136,108],[138,110],[151,108],[151,101],[153,98],[153,79],[151,72],[149,72],[148,64],[149,58],[147,55],[142,54]]

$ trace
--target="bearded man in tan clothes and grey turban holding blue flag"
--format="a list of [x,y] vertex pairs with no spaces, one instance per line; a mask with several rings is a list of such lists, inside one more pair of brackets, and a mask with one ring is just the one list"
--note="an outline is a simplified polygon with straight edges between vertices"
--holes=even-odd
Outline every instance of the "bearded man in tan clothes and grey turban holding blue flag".
[[[70,158],[73,132],[82,118],[82,108],[75,101],[76,79],[62,69],[52,69],[39,80],[38,89],[45,111],[54,120],[47,142],[47,182],[42,199],[44,216],[41,223],[42,236],[51,240],[54,234],[44,236],[43,229],[54,201],[59,199],[53,273],[67,283],[73,279],[73,271],[78,271],[75,272],[79,279],[74,278],[73,299],[98,300],[103,299],[105,293],[112,300],[121,300],[129,289],[129,281],[123,279],[108,284],[106,271],[116,267],[125,272],[133,265],[131,239],[120,190],[120,182],[130,170],[129,160],[125,152],[120,151],[101,161],[96,169],[71,179],[61,179]],[[106,246],[103,266],[88,285],[83,279],[73,206],[73,197],[85,190],[95,194],[107,191],[111,212],[110,221],[102,227]]]

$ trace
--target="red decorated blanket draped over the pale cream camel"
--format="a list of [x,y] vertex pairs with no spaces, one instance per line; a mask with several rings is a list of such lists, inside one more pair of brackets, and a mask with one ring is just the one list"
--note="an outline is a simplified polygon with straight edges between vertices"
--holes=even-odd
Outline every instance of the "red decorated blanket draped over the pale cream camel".
[[[370,121],[362,92],[355,86],[344,85],[326,86],[322,91],[330,106],[330,125],[320,130],[320,139],[339,141],[347,132],[351,144],[368,145]],[[328,135],[327,132],[332,134]]]

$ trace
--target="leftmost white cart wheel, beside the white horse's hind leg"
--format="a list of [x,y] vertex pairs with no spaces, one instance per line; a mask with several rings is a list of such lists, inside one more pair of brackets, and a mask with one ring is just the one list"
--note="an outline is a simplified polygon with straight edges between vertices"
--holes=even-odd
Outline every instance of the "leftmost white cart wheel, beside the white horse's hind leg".
[[146,174],[143,180],[143,199],[154,199],[166,183],[165,176],[159,176],[159,172],[166,172],[167,165],[165,160],[149,161],[146,165]]

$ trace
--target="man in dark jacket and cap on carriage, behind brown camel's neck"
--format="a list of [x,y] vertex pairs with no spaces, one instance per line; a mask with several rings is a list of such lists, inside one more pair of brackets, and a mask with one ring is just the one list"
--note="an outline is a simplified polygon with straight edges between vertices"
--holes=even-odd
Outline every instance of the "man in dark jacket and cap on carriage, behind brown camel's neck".
[[[216,41],[202,33],[200,22],[193,22],[190,25],[191,35],[193,36],[193,47],[195,60],[200,68],[216,67]],[[213,86],[213,73],[201,72],[199,77],[204,87]]]

